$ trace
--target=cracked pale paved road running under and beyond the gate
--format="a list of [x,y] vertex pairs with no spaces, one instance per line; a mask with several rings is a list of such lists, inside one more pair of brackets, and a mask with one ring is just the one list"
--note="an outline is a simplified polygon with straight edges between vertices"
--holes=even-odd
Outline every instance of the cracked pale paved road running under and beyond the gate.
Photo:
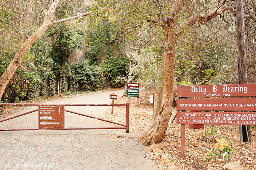
[[[99,92],[47,103],[111,103],[109,95],[122,91]],[[24,107],[20,112],[37,107]],[[105,114],[106,107],[66,106],[87,115]],[[65,127],[106,126],[94,119],[65,113]],[[0,128],[38,128],[38,112],[1,122]],[[125,129],[122,130],[125,133]],[[160,170],[154,161],[143,158],[146,146],[131,138],[114,138],[116,130],[0,131],[1,170]],[[132,134],[132,133],[131,133]]]

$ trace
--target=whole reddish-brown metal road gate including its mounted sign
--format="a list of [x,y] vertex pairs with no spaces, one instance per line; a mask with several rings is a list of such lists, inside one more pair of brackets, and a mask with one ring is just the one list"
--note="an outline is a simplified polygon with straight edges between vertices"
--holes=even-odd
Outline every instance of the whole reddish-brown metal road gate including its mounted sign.
[[[55,110],[52,109],[52,107],[47,107],[47,106],[53,106],[53,105],[58,106],[58,107],[56,107],[57,108],[56,113],[55,113]],[[0,129],[0,131],[126,129],[126,133],[129,133],[129,104],[128,103],[126,103],[126,104],[20,104],[20,103],[10,104],[10,103],[0,103],[0,106],[38,106],[38,109],[35,109],[35,110],[32,110],[32,111],[23,113],[23,114],[20,114],[20,115],[17,115],[17,116],[13,116],[11,118],[3,119],[0,122],[4,122],[4,121],[7,121],[7,120],[14,119],[14,118],[17,118],[17,117],[20,117],[20,116],[23,116],[23,115],[27,115],[29,113],[34,113],[34,112],[37,112],[37,111],[38,111],[38,122],[39,122],[39,128],[5,128],[5,129]],[[63,110],[61,110],[62,109],[61,106],[92,106],[92,107],[93,106],[126,106],[126,125],[120,124],[120,123],[117,123],[117,122],[112,122],[112,121],[104,120],[104,119],[101,119],[101,118],[96,118],[94,116],[89,116],[89,115],[73,112],[73,111],[70,111],[70,110],[66,110],[66,109],[64,109],[64,107],[63,107]],[[52,114],[51,112],[54,113],[54,114]],[[43,126],[43,125],[47,125],[47,121],[45,121],[46,119],[44,119],[44,118],[47,118],[47,115],[55,115],[55,116],[56,115],[60,115],[59,117],[61,117],[62,112],[63,112],[63,117],[64,117],[64,112],[69,112],[69,113],[74,113],[74,114],[77,114],[77,115],[85,116],[85,117],[88,117],[88,118],[93,118],[93,119],[97,119],[97,120],[100,120],[100,121],[105,121],[105,122],[109,122],[109,123],[112,123],[112,124],[116,124],[116,125],[119,125],[119,127],[79,127],[79,128],[66,128],[66,127],[64,127],[64,119],[63,119],[63,127],[61,127],[61,126],[57,126],[57,127],[44,127]],[[42,113],[41,116],[40,116],[40,113]],[[61,121],[58,122],[55,119],[50,118],[50,122],[51,122],[50,124],[53,125],[53,124],[58,124]],[[41,125],[41,127],[40,127],[40,125]]]

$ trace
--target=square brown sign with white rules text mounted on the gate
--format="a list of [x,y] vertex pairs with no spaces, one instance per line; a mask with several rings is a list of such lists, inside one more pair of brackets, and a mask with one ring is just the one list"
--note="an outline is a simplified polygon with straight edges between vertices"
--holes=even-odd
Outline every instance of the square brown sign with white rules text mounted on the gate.
[[64,129],[64,104],[39,104],[39,129]]

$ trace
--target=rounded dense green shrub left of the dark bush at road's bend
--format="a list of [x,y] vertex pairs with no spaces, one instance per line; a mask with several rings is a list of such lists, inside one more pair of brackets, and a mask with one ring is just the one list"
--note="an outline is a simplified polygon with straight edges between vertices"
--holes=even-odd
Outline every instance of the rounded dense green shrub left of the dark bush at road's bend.
[[97,91],[102,88],[103,76],[98,66],[90,66],[88,60],[70,66],[70,90]]

